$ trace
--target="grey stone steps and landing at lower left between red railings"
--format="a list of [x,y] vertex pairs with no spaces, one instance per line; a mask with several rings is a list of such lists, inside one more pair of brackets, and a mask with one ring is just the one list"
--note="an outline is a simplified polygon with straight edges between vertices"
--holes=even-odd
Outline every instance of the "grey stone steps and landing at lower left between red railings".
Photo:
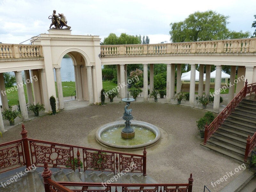
[[[37,167],[35,171],[25,173],[20,177],[17,182],[13,181],[11,184],[6,186],[4,182],[8,182],[14,175],[19,172],[24,172],[26,167],[21,167],[8,172],[0,174],[0,191],[1,192],[44,192],[44,184],[41,173],[43,172],[43,167]],[[54,181],[64,181],[64,182],[90,182],[90,183],[101,183],[107,182],[114,177],[113,172],[102,172],[102,171],[83,171],[83,170],[70,170],[70,169],[59,169],[50,168],[52,171],[52,180]],[[127,173],[123,172],[124,175],[118,177],[112,183],[158,183],[149,176],[143,176],[142,173]],[[121,175],[121,174],[120,174]],[[3,183],[3,185],[1,185]],[[3,187],[4,186],[4,187]],[[82,187],[68,187],[71,190],[82,189]],[[105,187],[89,187],[90,189],[105,189]],[[117,187],[118,192],[122,192],[121,187]],[[111,188],[111,192],[115,192],[115,188]]]

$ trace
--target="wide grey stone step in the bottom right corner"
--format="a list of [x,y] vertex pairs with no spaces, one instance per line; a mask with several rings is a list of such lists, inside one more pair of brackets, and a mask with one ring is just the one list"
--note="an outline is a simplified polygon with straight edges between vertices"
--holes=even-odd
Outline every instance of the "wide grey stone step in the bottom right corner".
[[[253,174],[254,172],[249,172],[248,169],[245,169],[235,179],[231,180],[220,192],[250,192],[244,191],[243,188],[247,186],[248,182],[250,182],[250,180],[254,177]],[[254,187],[256,186],[254,185]]]

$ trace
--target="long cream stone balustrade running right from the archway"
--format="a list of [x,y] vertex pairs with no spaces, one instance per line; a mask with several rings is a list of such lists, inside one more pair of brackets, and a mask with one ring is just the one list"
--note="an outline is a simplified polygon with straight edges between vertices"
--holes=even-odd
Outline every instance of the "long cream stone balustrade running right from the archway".
[[256,38],[167,44],[101,45],[101,57],[114,55],[158,55],[175,53],[252,53]]

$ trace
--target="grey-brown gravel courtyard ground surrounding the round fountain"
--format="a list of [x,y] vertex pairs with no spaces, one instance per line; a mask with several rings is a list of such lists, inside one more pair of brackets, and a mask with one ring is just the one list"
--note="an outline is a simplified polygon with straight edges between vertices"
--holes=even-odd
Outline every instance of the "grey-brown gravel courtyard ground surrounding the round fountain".
[[[204,185],[212,191],[220,191],[242,172],[237,172],[227,182],[213,188],[212,181],[220,179],[226,172],[234,172],[240,164],[200,147],[199,143],[203,139],[199,137],[196,121],[206,110],[161,103],[165,99],[159,99],[157,103],[153,98],[150,102],[140,102],[142,99],[143,97],[138,98],[131,103],[133,116],[136,120],[160,127],[164,136],[156,146],[147,149],[147,174],[153,179],[159,183],[186,183],[189,174],[193,173],[193,191],[203,191]],[[62,111],[56,116],[44,115],[24,122],[28,137],[108,150],[95,142],[94,132],[101,125],[120,119],[124,112],[124,102],[119,101],[114,100],[104,106],[87,105],[87,101],[65,101],[65,107],[70,110]],[[82,104],[81,108],[71,109],[74,106],[79,107],[79,103]],[[212,108],[210,105],[208,107]],[[13,126],[4,132],[0,143],[20,139],[20,131],[21,125]],[[142,150],[131,153],[142,154]]]

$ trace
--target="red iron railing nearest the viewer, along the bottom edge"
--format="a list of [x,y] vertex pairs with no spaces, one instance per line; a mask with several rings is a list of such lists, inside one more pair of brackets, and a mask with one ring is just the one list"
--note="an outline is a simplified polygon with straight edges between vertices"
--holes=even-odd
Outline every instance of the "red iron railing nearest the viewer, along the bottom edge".
[[[188,183],[178,184],[126,184],[126,183],[84,183],[84,182],[56,182],[51,179],[52,172],[49,170],[47,163],[44,163],[44,172],[41,174],[44,178],[45,192],[111,192],[111,187],[122,188],[122,192],[192,192],[193,178],[192,174],[188,178]],[[75,187],[69,189],[67,187]],[[90,187],[102,187],[102,189],[91,189]],[[162,189],[163,188],[163,189]],[[121,192],[121,191],[119,191]]]

